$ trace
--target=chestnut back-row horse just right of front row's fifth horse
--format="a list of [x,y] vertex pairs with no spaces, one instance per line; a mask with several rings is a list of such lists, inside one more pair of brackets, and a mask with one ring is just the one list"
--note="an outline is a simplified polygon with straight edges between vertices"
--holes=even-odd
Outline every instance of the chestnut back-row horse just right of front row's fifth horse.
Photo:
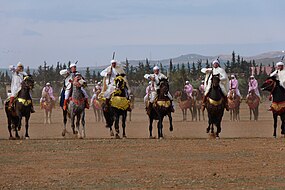
[[235,89],[231,89],[229,91],[228,104],[230,111],[230,120],[239,121],[240,97],[236,94]]

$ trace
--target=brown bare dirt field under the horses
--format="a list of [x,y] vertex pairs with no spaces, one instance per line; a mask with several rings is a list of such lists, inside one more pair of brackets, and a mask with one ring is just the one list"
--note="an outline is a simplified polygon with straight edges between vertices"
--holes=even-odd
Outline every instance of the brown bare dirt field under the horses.
[[[127,122],[127,139],[113,139],[103,122],[86,113],[84,140],[61,137],[62,115],[43,124],[36,107],[30,140],[7,140],[4,111],[0,115],[1,189],[284,189],[285,139],[274,139],[272,114],[260,106],[258,122],[249,121],[245,104],[241,121],[225,113],[219,140],[206,133],[207,122],[182,122],[173,114],[174,131],[164,122],[165,139],[148,139],[148,118],[137,103]],[[156,125],[156,122],[155,122]],[[68,125],[68,131],[71,132]],[[157,130],[154,128],[154,135]]]

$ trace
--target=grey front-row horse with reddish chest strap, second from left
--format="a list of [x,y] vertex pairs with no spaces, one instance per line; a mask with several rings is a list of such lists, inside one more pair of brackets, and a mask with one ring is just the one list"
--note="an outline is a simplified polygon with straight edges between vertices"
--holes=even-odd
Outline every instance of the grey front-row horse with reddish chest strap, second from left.
[[[74,135],[82,139],[86,137],[85,134],[85,97],[82,93],[81,87],[86,85],[86,81],[81,76],[75,76],[72,82],[72,91],[70,102],[68,104],[68,109],[66,115],[70,116],[71,128]],[[65,112],[63,112],[65,114]],[[76,117],[76,129],[75,129],[75,117]],[[65,118],[64,118],[65,119]],[[67,119],[67,118],[66,118]],[[80,130],[80,121],[82,125],[82,130]],[[66,122],[65,122],[66,124]],[[66,125],[64,125],[62,136],[65,136]]]

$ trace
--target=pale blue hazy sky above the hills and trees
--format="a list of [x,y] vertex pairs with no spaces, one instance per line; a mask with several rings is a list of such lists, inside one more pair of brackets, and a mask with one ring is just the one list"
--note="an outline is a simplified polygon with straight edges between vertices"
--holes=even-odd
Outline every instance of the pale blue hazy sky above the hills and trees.
[[283,50],[284,0],[0,0],[0,68]]

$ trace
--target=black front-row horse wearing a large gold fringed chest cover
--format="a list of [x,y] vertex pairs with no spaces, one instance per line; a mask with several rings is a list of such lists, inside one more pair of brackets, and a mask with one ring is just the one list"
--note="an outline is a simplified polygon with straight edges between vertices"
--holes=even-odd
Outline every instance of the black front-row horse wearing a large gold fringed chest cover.
[[127,110],[130,106],[130,101],[128,100],[127,86],[124,79],[124,74],[117,75],[114,79],[116,89],[112,93],[110,98],[110,106],[103,104],[104,117],[106,120],[106,127],[110,129],[110,135],[114,136],[112,126],[115,122],[115,138],[119,139],[120,130],[119,130],[119,120],[122,116],[122,128],[123,128],[123,138],[127,138],[126,135],[126,118]]

